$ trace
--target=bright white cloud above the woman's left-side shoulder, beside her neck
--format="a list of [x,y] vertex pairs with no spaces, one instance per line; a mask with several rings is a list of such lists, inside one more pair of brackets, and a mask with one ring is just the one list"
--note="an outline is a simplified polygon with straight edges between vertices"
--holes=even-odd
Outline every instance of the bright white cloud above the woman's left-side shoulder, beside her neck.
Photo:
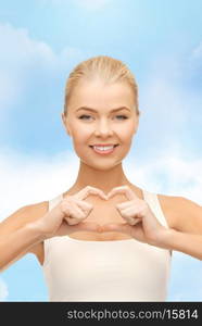
[[70,151],[50,160],[1,149],[0,221],[20,206],[49,200],[65,191],[74,181],[77,167],[78,162]]

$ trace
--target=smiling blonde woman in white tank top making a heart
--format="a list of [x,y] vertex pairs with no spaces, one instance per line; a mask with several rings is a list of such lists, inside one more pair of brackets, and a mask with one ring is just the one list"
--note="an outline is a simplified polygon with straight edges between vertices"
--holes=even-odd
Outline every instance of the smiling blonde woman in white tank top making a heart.
[[202,259],[202,208],[131,184],[122,166],[139,124],[138,87],[121,61],[78,64],[62,121],[80,159],[65,193],[0,225],[0,268],[36,254],[50,301],[165,301],[172,250]]

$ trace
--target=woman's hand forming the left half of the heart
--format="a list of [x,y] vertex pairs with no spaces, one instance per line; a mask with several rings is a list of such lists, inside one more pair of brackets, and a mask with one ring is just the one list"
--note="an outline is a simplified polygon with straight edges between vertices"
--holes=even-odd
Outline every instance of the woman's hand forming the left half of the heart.
[[51,211],[37,220],[35,226],[45,236],[45,239],[84,230],[98,233],[100,228],[98,223],[83,222],[93,209],[91,203],[84,201],[89,195],[97,195],[106,200],[102,190],[87,186],[77,193],[67,196]]

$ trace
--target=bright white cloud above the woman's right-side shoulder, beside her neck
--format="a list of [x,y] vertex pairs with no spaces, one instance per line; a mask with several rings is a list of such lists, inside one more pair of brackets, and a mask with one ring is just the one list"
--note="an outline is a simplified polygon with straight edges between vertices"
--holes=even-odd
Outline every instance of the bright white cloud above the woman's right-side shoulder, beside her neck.
[[147,158],[139,165],[134,156],[127,160],[126,172],[129,179],[151,192],[182,196],[202,204],[202,158],[184,158],[179,146],[161,151],[156,158]]

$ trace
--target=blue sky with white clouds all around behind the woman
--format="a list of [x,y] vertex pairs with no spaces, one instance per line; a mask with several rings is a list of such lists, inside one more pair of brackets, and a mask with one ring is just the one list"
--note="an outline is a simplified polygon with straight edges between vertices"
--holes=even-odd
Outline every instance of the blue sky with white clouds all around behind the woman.
[[[201,0],[0,1],[0,220],[74,183],[64,85],[77,63],[100,54],[123,60],[139,85],[126,175],[202,204],[201,12]],[[33,254],[1,273],[0,300],[48,301]],[[174,251],[167,300],[202,301],[201,261]]]

